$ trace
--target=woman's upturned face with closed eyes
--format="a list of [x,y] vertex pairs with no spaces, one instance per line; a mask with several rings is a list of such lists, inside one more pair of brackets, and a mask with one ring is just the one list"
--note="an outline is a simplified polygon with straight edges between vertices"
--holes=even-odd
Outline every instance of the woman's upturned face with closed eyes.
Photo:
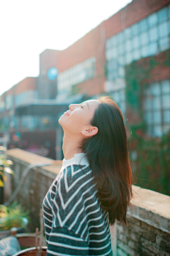
[[64,112],[59,119],[64,132],[82,134],[82,131],[91,129],[91,119],[98,105],[98,100],[86,100],[81,104],[69,105],[69,110]]

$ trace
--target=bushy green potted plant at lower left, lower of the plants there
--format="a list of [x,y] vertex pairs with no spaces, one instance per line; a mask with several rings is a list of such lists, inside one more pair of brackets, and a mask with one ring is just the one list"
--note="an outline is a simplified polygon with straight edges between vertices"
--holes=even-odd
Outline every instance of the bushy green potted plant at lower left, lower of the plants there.
[[10,207],[0,205],[0,230],[10,230],[12,227],[25,227],[23,218],[28,218],[29,210],[17,201]]

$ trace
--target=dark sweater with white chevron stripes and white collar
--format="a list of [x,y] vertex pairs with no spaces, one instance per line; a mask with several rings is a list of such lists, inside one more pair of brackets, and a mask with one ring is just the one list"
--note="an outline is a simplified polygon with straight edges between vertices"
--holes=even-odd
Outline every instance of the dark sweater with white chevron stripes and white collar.
[[100,207],[94,176],[84,153],[63,160],[42,209],[47,256],[113,256],[108,213]]

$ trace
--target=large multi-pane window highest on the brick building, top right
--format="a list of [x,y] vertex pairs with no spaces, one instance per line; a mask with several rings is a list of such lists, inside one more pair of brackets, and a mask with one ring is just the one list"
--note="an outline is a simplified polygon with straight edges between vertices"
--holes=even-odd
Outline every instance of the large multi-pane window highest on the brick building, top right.
[[[170,46],[170,5],[133,24],[106,41],[107,79],[119,78],[120,72],[108,68],[112,59],[120,65],[128,65],[169,49]],[[113,73],[113,74],[109,74]]]

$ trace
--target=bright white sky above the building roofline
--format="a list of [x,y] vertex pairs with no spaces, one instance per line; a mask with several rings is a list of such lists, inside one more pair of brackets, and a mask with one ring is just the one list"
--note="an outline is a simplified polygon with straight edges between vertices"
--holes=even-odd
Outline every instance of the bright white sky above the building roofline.
[[131,1],[0,1],[0,95],[39,75],[43,50],[64,50]]

